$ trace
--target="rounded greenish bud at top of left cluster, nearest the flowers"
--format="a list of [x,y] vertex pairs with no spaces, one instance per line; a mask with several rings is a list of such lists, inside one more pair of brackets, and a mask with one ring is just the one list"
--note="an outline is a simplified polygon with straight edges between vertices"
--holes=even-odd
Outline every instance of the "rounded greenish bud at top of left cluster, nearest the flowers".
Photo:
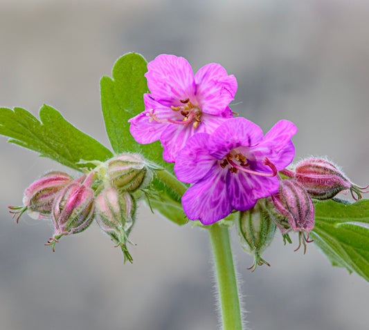
[[125,153],[109,159],[107,176],[110,184],[121,191],[143,189],[152,181],[152,171],[138,154]]

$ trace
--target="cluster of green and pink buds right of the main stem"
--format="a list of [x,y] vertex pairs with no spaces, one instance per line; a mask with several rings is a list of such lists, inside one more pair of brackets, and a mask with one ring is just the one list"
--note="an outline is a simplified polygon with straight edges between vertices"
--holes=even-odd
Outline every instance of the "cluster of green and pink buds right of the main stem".
[[[254,256],[256,266],[269,265],[261,254],[269,246],[276,229],[280,229],[286,242],[291,243],[289,233],[297,232],[304,253],[309,240],[309,231],[314,228],[313,200],[329,200],[339,193],[350,191],[354,200],[360,200],[366,187],[353,184],[341,170],[325,159],[304,159],[293,170],[283,169],[278,176],[278,192],[258,200],[255,206],[240,212],[237,232],[242,248]],[[283,177],[283,179],[282,179]]]

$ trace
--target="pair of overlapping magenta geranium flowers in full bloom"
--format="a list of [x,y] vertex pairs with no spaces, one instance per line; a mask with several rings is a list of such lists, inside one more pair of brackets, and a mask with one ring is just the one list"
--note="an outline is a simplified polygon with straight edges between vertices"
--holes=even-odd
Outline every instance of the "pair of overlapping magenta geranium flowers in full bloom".
[[186,59],[159,55],[147,65],[145,111],[129,119],[136,142],[160,139],[163,159],[193,184],[182,197],[190,220],[213,224],[278,192],[278,171],[294,159],[297,128],[278,122],[264,136],[256,124],[233,118],[237,82],[219,64],[196,75]]

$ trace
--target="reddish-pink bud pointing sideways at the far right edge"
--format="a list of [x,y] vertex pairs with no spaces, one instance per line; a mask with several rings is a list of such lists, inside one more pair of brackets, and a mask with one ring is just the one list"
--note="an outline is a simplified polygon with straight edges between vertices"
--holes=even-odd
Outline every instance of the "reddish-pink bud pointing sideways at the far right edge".
[[359,187],[325,159],[310,158],[296,166],[296,180],[303,184],[307,193],[316,200],[330,200],[339,192],[350,189],[354,200],[361,199],[361,193],[367,193],[366,187]]

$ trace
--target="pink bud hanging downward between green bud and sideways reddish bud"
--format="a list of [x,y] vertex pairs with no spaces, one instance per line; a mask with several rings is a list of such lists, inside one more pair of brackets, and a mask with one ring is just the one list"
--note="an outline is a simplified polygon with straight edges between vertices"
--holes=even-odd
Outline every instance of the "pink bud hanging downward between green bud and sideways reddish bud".
[[[304,251],[306,251],[309,231],[314,228],[314,204],[303,185],[296,180],[281,180],[278,193],[271,195],[271,200],[276,211],[287,218],[291,229],[299,232],[300,243],[303,238]],[[306,236],[305,233],[307,233]],[[300,244],[296,250],[299,248]]]

